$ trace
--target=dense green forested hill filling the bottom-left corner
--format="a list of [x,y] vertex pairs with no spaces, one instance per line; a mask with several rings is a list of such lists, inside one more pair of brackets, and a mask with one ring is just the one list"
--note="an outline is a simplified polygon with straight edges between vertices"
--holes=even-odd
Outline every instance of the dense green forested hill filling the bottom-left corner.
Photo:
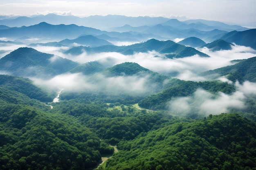
[[74,117],[29,105],[1,104],[0,109],[1,170],[85,170],[113,152]]

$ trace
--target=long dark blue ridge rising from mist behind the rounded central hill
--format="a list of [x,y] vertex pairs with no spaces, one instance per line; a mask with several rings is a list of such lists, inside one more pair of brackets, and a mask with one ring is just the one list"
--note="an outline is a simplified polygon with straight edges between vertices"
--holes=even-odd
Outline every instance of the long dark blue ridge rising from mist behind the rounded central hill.
[[132,55],[134,53],[146,53],[148,51],[157,51],[159,53],[166,53],[168,58],[180,58],[189,57],[192,55],[200,55],[201,57],[209,57],[207,54],[201,53],[192,47],[187,47],[181,44],[177,44],[171,40],[159,41],[155,39],[148,40],[146,42],[132,44],[129,46],[99,46],[94,48],[89,47],[74,47],[67,51],[73,55],[79,55],[86,51],[88,53],[100,53],[100,52],[118,52],[124,55]]

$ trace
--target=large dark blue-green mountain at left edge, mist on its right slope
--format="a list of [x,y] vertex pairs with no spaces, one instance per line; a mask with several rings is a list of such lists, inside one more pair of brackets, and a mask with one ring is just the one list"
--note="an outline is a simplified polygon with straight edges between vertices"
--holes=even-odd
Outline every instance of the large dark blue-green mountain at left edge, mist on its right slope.
[[44,77],[65,73],[78,63],[32,48],[19,48],[0,59],[1,71],[21,77]]

